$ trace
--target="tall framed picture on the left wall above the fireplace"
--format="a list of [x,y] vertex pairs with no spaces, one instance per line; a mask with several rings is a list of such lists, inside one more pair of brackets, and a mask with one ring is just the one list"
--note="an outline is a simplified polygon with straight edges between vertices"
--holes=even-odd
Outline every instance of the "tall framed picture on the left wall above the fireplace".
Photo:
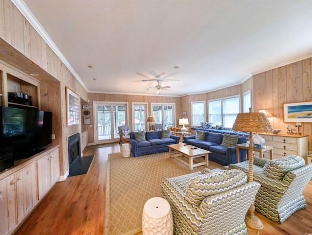
[[66,86],[67,126],[79,124],[79,96]]

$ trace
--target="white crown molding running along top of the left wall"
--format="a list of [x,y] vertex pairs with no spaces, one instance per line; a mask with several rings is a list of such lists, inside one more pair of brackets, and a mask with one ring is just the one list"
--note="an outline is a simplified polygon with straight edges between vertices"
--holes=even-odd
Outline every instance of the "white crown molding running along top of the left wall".
[[50,38],[47,32],[43,29],[39,21],[35,18],[33,13],[29,10],[27,5],[22,0],[11,0],[12,3],[18,8],[20,13],[25,17],[25,19],[34,27],[40,37],[48,44],[48,46],[52,49],[52,51],[59,57],[59,59],[64,63],[64,65],[68,68],[68,70],[73,74],[73,76],[78,80],[81,86],[89,92],[86,85],[80,79],[74,68],[70,65],[64,55],[61,53],[57,45],[54,41]]

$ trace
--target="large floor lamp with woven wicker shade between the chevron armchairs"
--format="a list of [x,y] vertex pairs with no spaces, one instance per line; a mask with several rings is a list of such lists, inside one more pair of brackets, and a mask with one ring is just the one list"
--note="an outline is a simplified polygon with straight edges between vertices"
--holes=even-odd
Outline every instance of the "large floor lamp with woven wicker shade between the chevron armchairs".
[[[264,113],[252,113],[252,108],[249,108],[249,113],[237,115],[232,129],[249,132],[249,182],[252,182],[254,181],[253,132],[273,132],[273,128]],[[261,220],[254,215],[254,203],[245,216],[245,223],[252,229],[263,229]]]

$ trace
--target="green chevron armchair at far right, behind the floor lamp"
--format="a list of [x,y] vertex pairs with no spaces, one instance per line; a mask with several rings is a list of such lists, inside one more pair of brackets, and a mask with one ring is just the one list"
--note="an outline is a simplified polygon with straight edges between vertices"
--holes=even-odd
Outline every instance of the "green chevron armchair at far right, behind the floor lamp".
[[[249,161],[230,164],[249,174]],[[274,222],[282,223],[294,212],[307,207],[302,191],[312,177],[312,164],[292,155],[273,160],[254,157],[254,181],[261,184],[255,196],[255,210]]]

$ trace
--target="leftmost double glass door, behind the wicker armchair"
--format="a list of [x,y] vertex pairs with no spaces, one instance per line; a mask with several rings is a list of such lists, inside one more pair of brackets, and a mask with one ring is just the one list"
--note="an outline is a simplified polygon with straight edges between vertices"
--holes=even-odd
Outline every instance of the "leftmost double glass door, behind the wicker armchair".
[[95,143],[119,141],[118,126],[127,123],[127,104],[94,102]]

